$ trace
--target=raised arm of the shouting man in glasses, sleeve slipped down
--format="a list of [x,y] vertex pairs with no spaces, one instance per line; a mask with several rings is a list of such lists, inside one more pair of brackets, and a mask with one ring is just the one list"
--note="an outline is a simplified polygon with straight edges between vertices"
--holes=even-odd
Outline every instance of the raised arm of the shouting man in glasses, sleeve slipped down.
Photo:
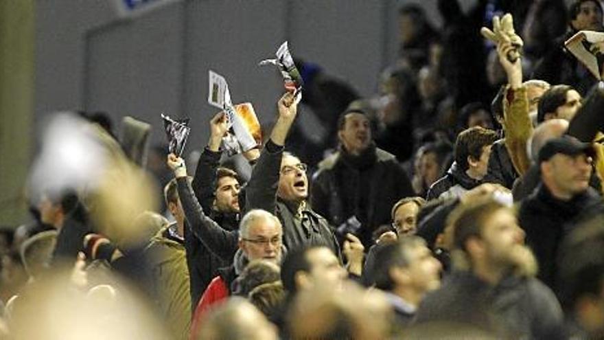
[[246,188],[246,210],[248,211],[264,209],[267,212],[275,212],[281,157],[286,138],[296,119],[297,106],[298,104],[290,92],[284,94],[277,103],[279,117],[272,128],[270,139],[260,152],[260,157],[252,170],[252,176]]

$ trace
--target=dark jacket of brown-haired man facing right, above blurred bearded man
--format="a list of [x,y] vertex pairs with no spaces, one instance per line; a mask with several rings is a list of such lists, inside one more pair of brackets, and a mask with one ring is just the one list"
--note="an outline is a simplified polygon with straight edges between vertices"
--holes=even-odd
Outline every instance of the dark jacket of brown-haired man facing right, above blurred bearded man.
[[445,176],[430,186],[426,199],[430,201],[439,198],[459,197],[464,192],[476,188],[481,183],[483,181],[470,178],[465,171],[462,171],[457,166],[456,162],[453,162]]

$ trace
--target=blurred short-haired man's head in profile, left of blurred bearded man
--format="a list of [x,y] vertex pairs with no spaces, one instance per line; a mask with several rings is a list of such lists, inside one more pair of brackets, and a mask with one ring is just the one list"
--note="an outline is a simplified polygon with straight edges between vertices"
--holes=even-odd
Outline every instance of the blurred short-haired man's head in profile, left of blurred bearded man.
[[375,254],[375,288],[386,292],[395,311],[395,328],[407,326],[429,291],[439,288],[441,262],[418,236],[400,238]]

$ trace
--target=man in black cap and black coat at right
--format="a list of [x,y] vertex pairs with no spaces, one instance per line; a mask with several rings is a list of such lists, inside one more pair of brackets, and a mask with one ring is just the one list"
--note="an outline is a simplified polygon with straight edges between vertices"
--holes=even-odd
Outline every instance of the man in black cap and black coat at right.
[[594,148],[574,137],[548,141],[539,151],[542,183],[520,204],[518,219],[539,261],[539,278],[555,288],[561,240],[578,220],[604,209],[590,188]]

